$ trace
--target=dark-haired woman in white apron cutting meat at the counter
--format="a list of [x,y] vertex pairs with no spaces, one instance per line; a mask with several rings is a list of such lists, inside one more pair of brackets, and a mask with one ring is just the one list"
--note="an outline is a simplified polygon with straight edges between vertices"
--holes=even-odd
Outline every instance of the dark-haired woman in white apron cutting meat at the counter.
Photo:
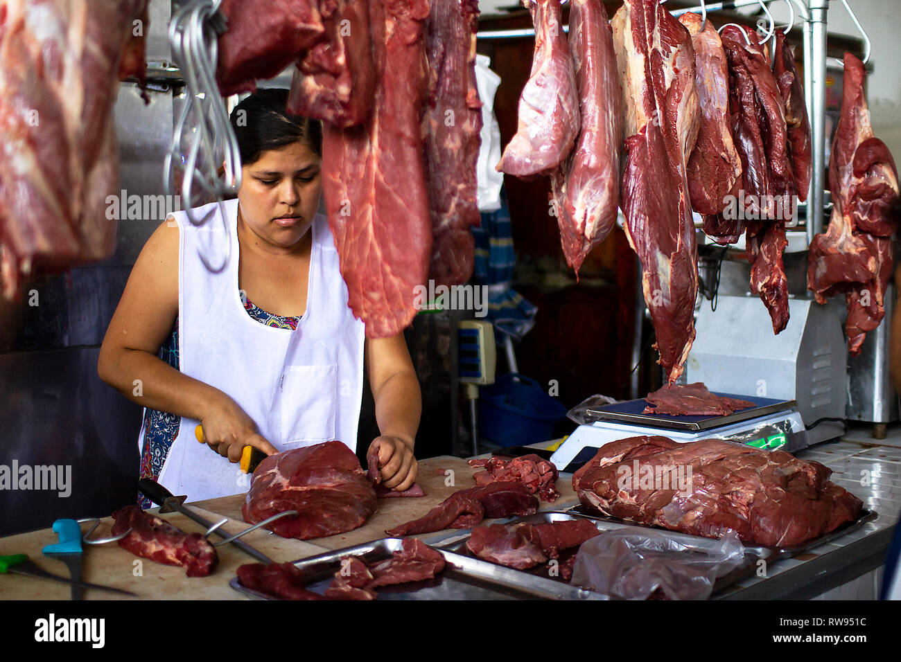
[[[404,335],[366,339],[350,312],[316,213],[322,126],[286,113],[286,101],[287,90],[265,89],[234,109],[237,199],[223,204],[224,222],[211,205],[196,210],[214,211],[200,227],[184,212],[159,226],[100,350],[100,377],[144,407],[141,477],[192,501],[247,490],[234,464],[244,446],[356,450],[364,363],[383,485],[401,491],[416,477],[421,396]],[[211,271],[201,254],[224,267]]]

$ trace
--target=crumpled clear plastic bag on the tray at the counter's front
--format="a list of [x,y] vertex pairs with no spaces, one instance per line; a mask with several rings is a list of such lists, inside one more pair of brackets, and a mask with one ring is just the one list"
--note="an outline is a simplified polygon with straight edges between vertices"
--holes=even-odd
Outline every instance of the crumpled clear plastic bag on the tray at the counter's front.
[[571,583],[627,600],[651,595],[706,600],[716,578],[744,561],[744,546],[734,531],[710,543],[705,553],[663,531],[637,527],[606,531],[578,549]]

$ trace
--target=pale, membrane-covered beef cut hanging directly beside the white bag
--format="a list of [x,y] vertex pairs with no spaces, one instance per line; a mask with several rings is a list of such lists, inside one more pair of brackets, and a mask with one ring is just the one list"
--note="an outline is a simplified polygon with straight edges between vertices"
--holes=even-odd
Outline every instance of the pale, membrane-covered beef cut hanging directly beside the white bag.
[[569,156],[579,129],[578,91],[563,35],[560,0],[523,0],[532,11],[532,74],[519,97],[519,126],[496,168],[521,179],[550,175]]

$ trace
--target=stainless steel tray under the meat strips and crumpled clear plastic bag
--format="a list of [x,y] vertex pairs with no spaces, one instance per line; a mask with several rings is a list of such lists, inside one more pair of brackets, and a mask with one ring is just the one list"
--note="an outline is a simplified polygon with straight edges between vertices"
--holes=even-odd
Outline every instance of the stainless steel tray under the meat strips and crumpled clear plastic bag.
[[[572,510],[569,510],[568,512],[536,512],[534,515],[529,515],[527,517],[515,517],[511,518],[510,520],[496,523],[526,522],[530,524],[546,524],[553,521],[571,520],[590,520],[597,527],[597,530],[602,532],[618,531],[624,528],[634,529],[636,527],[636,525],[634,524],[625,524],[620,521],[613,521],[592,515],[582,514],[579,512],[573,512]],[[660,531],[665,531],[669,539],[675,540],[679,544],[685,546],[688,550],[694,552],[707,553],[719,545],[719,540],[715,540],[713,538],[692,536],[687,533],[667,531],[665,529]],[[455,554],[459,554],[460,556],[476,558],[466,547],[467,540],[469,540],[469,532],[470,531],[460,531],[460,534],[457,534],[453,537],[448,536],[446,540],[444,540],[443,543],[439,546],[441,547],[442,551],[443,549],[448,549]],[[758,559],[762,558],[768,562],[770,560],[775,560],[775,552],[770,548],[746,546],[744,549],[745,555],[742,565],[734,568],[728,574],[716,578],[713,595],[715,595],[719,591],[722,591],[727,586],[733,585],[735,582],[741,581],[743,578],[752,575],[757,569]],[[514,570],[514,572],[523,573],[529,576],[538,576],[542,579],[551,579],[551,581],[558,582],[562,585],[570,585],[569,582],[561,576],[548,576],[545,568],[542,566],[532,567],[526,570]]]

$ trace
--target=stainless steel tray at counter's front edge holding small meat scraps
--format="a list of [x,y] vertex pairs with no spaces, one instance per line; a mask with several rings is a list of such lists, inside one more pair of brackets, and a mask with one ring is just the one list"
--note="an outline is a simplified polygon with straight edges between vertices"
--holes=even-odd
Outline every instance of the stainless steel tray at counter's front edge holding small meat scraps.
[[[401,549],[400,538],[373,540],[362,545],[335,549],[295,561],[307,579],[309,591],[323,594],[341,568],[341,558],[356,556],[366,561],[389,558]],[[381,586],[378,600],[608,600],[606,595],[586,591],[578,586],[561,584],[548,577],[531,576],[509,567],[496,566],[479,558],[437,549],[446,562],[434,579],[394,586]],[[233,589],[260,600],[275,600],[270,595],[253,591],[232,578]]]

